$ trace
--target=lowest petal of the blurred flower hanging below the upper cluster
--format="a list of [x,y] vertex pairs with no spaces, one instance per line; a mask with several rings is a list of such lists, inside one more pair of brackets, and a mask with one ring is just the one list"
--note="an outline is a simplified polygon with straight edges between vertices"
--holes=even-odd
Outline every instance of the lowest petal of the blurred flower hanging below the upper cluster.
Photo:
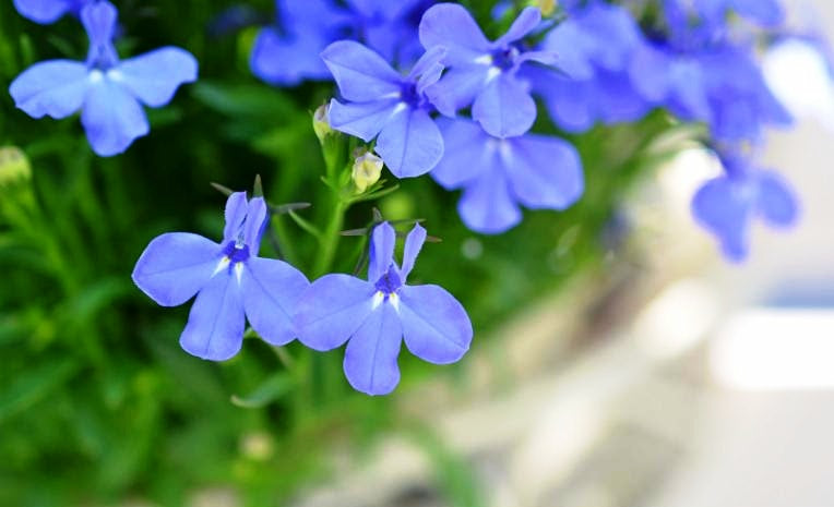
[[522,219],[509,183],[497,169],[486,171],[466,186],[457,213],[466,227],[485,234],[504,232]]

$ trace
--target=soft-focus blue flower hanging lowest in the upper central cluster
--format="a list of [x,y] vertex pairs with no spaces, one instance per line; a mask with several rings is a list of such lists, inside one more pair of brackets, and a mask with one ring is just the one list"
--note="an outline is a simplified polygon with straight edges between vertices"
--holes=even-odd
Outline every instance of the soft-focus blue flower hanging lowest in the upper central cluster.
[[558,137],[500,138],[469,120],[439,120],[445,156],[431,176],[448,190],[463,189],[457,209],[466,227],[495,234],[522,219],[519,205],[564,209],[584,190],[576,149]]

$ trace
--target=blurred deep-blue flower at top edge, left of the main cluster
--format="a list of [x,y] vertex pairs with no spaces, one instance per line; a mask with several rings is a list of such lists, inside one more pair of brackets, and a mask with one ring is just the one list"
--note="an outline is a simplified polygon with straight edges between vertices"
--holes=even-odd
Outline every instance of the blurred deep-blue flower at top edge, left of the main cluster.
[[417,23],[434,0],[276,0],[278,22],[261,31],[250,65],[261,80],[293,86],[305,80],[329,80],[319,58],[331,43],[364,43],[400,67],[422,53]]

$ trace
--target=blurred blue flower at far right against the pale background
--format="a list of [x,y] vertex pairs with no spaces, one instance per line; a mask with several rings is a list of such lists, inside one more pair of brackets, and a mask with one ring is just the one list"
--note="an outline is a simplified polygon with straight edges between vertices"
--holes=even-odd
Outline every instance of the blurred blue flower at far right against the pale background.
[[725,174],[707,181],[692,200],[695,219],[720,243],[724,255],[739,262],[748,255],[750,225],[761,218],[775,228],[793,226],[798,204],[775,172],[751,167],[737,156],[723,156]]

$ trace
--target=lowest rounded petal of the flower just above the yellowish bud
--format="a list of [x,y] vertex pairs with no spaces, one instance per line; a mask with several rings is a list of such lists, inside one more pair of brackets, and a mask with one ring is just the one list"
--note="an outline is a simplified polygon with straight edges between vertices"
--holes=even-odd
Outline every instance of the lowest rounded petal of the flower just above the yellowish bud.
[[382,128],[377,153],[397,178],[429,172],[443,157],[443,136],[428,112],[404,109]]

